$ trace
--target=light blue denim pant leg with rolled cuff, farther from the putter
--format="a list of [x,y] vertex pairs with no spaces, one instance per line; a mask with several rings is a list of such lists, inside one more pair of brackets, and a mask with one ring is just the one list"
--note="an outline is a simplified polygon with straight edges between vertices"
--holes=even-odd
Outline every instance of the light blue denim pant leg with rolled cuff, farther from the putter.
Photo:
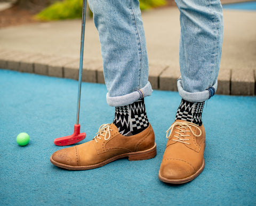
[[178,90],[189,102],[214,95],[220,67],[223,17],[220,0],[175,0],[180,10]]

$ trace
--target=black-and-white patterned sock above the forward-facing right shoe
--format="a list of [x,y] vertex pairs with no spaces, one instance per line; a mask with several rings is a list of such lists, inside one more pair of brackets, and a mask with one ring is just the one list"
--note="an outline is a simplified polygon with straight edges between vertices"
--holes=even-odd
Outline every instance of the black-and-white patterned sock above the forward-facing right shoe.
[[201,126],[203,108],[204,102],[188,102],[182,99],[175,120],[189,121]]

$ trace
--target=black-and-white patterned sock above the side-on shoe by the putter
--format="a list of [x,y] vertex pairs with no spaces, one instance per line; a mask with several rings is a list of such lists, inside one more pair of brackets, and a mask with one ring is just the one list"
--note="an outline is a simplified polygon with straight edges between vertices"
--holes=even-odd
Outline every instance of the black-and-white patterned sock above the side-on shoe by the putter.
[[132,136],[146,129],[149,122],[144,98],[129,105],[117,106],[113,123],[124,136]]

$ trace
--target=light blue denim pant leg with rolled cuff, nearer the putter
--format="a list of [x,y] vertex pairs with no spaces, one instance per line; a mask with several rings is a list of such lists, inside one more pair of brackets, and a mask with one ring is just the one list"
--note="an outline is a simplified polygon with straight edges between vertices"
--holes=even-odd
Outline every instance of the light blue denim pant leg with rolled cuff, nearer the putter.
[[89,0],[99,31],[110,106],[151,95],[145,32],[138,0]]

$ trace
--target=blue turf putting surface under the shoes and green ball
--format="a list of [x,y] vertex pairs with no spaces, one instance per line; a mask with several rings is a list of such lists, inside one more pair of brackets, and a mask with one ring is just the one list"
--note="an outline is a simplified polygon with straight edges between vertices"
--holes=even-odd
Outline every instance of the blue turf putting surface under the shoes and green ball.
[[[101,84],[82,84],[81,131],[90,141],[114,108]],[[87,171],[53,166],[56,137],[73,133],[77,81],[0,70],[0,205],[255,205],[256,98],[215,95],[205,103],[206,166],[193,182],[158,180],[167,130],[180,103],[177,92],[145,99],[156,134],[151,160],[111,162]],[[30,143],[19,146],[21,132]]]

